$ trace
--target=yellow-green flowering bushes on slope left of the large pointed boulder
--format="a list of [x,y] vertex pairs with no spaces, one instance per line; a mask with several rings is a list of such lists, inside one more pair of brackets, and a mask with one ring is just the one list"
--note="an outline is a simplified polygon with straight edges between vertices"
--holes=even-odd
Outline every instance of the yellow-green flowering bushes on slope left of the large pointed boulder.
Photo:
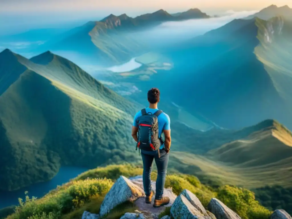
[[89,202],[93,196],[103,196],[112,187],[112,180],[90,179],[74,181],[66,184],[41,199],[26,196],[25,202],[19,199],[19,206],[16,212],[8,219],[31,219],[50,217],[53,215],[59,218],[74,209],[80,208],[84,203]]

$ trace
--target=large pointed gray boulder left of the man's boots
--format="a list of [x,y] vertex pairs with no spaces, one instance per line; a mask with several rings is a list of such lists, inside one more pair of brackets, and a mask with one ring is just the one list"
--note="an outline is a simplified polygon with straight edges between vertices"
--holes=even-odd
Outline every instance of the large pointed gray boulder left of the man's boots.
[[102,201],[100,216],[106,215],[114,207],[125,201],[135,201],[143,196],[145,196],[145,192],[141,187],[133,184],[126,177],[120,176]]

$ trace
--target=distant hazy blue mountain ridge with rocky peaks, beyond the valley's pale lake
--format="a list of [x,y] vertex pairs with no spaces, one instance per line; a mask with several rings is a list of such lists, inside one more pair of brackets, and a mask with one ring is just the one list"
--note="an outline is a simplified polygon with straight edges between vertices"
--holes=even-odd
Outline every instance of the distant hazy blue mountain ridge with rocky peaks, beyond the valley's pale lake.
[[164,10],[147,13],[136,18],[126,14],[107,16],[100,21],[91,21],[55,37],[40,48],[78,53],[84,62],[112,66],[127,62],[145,52],[145,44],[136,39],[132,32],[144,31],[166,21],[180,21],[194,18],[209,18],[199,9],[191,9],[178,16]]

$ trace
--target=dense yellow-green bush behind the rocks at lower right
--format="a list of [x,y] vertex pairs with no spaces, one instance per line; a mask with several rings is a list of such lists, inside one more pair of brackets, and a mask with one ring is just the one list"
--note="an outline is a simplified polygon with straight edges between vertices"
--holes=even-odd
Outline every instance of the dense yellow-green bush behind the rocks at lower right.
[[272,214],[247,189],[225,185],[219,188],[217,198],[243,219],[268,219]]

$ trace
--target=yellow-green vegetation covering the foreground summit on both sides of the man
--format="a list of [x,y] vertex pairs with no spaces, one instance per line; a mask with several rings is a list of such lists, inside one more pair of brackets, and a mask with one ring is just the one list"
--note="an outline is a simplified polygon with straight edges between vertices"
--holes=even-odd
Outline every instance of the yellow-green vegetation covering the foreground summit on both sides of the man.
[[[34,197],[29,199],[28,196],[24,202],[20,199],[20,205],[16,207],[15,213],[7,219],[51,219],[50,217],[77,219],[81,218],[84,211],[98,214],[105,194],[113,185],[112,180],[117,179],[119,174],[130,177],[142,171],[142,168],[130,164],[110,165],[86,171],[40,199]],[[153,173],[153,177],[155,175],[156,173]],[[101,176],[105,178],[95,178]],[[205,208],[211,198],[217,197],[244,219],[267,219],[271,215],[269,210],[255,200],[254,194],[246,189],[231,186],[211,188],[201,184],[196,177],[184,174],[167,175],[165,186],[172,187],[177,195],[184,189],[190,190],[196,194]],[[120,218],[124,213],[134,211],[135,205],[126,202],[114,208],[106,218]],[[166,208],[159,217],[169,214],[170,208]]]

